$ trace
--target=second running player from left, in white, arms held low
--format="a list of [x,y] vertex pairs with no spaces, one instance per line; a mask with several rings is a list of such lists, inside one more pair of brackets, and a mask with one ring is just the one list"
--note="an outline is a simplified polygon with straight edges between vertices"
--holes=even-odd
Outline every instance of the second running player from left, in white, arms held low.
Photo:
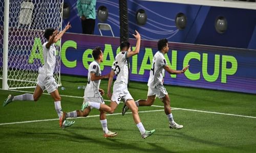
[[[88,83],[86,89],[84,89],[84,103],[87,101],[93,101],[98,104],[104,104],[103,98],[101,95],[104,95],[104,90],[99,88],[100,80],[109,78],[108,75],[101,75],[100,71],[100,63],[103,62],[103,53],[100,47],[96,47],[93,49],[93,58],[94,61],[89,65],[88,69]],[[83,111],[77,110],[69,113],[63,112],[62,118],[65,119],[66,117],[81,117],[81,116],[88,116],[91,109],[93,107],[88,107]],[[111,132],[108,130],[107,121],[106,121],[106,114],[104,111],[100,111],[100,123],[104,132],[104,137],[114,137],[117,135],[115,132]]]

